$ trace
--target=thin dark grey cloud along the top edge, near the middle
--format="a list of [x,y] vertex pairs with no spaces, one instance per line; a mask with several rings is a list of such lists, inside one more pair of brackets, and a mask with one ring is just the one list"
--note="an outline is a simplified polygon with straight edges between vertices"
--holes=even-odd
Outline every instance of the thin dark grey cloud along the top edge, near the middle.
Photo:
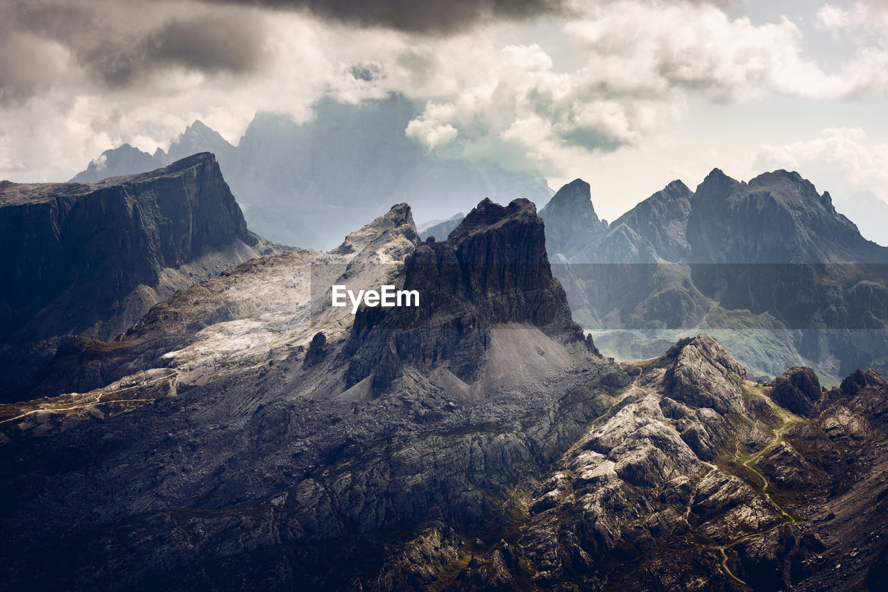
[[489,20],[523,20],[566,12],[566,0],[204,0],[281,10],[308,10],[360,27],[416,33],[454,33]]

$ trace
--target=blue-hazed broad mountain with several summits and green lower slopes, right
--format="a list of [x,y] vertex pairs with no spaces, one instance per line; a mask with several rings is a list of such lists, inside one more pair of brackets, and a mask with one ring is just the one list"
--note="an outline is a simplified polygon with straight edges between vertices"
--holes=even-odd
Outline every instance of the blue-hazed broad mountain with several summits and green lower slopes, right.
[[[572,222],[556,222],[571,212],[550,214],[547,234],[577,236]],[[800,362],[834,379],[858,366],[888,370],[888,248],[796,172],[745,183],[716,169],[693,193],[674,181],[585,236],[595,237],[553,260],[569,263],[554,273],[587,328],[666,339],[730,330],[719,339],[759,373]],[[600,341],[646,350],[638,335]]]

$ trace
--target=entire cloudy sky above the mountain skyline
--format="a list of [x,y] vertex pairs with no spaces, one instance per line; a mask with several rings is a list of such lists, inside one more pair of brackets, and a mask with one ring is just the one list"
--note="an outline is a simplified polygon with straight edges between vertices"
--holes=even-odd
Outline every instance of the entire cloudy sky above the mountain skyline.
[[608,220],[716,167],[888,200],[888,0],[0,0],[0,179],[390,92],[426,149],[583,178]]

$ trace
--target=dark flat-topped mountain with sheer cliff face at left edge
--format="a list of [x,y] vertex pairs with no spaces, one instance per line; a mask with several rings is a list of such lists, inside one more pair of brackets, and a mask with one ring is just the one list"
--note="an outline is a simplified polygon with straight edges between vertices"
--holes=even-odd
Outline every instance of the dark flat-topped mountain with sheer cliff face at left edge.
[[0,248],[4,346],[113,338],[176,289],[273,250],[210,154],[93,183],[4,182]]

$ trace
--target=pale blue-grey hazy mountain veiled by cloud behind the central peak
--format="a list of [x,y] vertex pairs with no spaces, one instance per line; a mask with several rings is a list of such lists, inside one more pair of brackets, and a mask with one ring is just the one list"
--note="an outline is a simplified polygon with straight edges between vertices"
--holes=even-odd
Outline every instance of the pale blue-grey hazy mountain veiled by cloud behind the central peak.
[[399,202],[429,220],[466,211],[483,197],[543,203],[551,196],[539,175],[428,152],[404,133],[417,113],[398,95],[360,105],[321,100],[303,124],[258,114],[236,147],[195,122],[167,152],[107,150],[75,180],[212,152],[251,229],[279,243],[324,249]]

